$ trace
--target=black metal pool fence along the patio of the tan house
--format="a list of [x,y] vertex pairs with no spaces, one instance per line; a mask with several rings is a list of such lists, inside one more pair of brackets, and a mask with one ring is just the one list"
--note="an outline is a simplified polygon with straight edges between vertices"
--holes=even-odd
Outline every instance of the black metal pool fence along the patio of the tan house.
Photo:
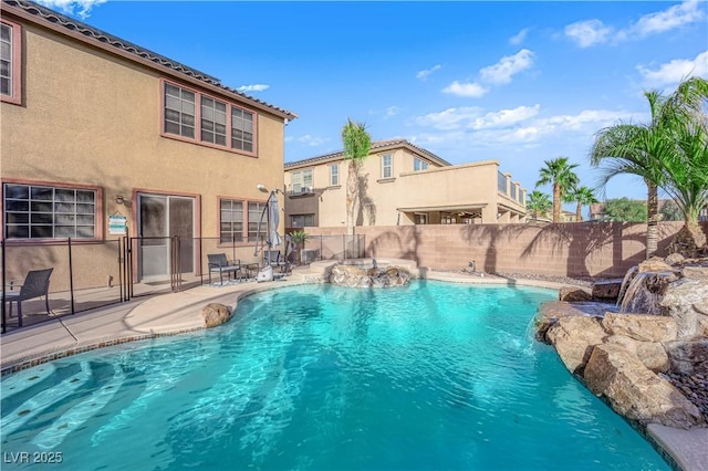
[[[137,296],[208,284],[207,255],[212,253],[238,260],[250,268],[248,275],[254,276],[263,266],[267,248],[262,239],[258,243],[248,240],[225,243],[219,238],[180,237],[126,237],[100,242],[63,239],[41,243],[3,240],[0,243],[2,333]],[[364,248],[363,236],[314,236],[289,262],[362,258]],[[284,255],[284,245],[274,249]],[[52,269],[48,295],[24,299],[22,287],[28,273],[45,269]]]

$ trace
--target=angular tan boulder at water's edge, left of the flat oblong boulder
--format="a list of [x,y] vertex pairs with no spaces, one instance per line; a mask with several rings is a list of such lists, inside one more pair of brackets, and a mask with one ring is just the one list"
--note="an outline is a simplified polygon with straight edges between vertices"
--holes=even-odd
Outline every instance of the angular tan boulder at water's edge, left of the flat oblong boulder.
[[606,336],[600,320],[591,316],[561,317],[546,333],[561,360],[573,374],[583,370],[593,347],[602,344]]

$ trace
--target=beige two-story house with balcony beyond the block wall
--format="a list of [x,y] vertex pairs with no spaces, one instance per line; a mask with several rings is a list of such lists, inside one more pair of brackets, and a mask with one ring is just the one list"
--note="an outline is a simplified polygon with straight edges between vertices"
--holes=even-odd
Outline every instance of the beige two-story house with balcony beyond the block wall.
[[[343,227],[348,161],[343,153],[285,164],[285,223]],[[522,222],[525,189],[494,160],[450,165],[407,140],[372,143],[360,171],[356,226]]]

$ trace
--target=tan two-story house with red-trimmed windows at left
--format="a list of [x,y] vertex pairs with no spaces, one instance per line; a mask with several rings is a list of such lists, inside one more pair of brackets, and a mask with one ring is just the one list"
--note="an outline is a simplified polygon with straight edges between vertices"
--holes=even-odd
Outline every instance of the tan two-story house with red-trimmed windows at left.
[[174,236],[181,273],[204,266],[200,238],[253,257],[257,185],[281,187],[293,113],[32,2],[3,0],[1,28],[8,244],[115,240],[123,216],[129,236],[159,238],[133,254],[142,279],[167,274]]

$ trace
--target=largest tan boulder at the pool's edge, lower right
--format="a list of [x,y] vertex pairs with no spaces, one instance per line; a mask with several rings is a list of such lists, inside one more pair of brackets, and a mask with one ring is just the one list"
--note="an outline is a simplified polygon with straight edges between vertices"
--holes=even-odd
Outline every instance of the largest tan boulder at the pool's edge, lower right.
[[681,429],[705,425],[694,404],[621,345],[593,348],[584,380],[590,390],[605,397],[617,414],[642,425],[660,423]]

